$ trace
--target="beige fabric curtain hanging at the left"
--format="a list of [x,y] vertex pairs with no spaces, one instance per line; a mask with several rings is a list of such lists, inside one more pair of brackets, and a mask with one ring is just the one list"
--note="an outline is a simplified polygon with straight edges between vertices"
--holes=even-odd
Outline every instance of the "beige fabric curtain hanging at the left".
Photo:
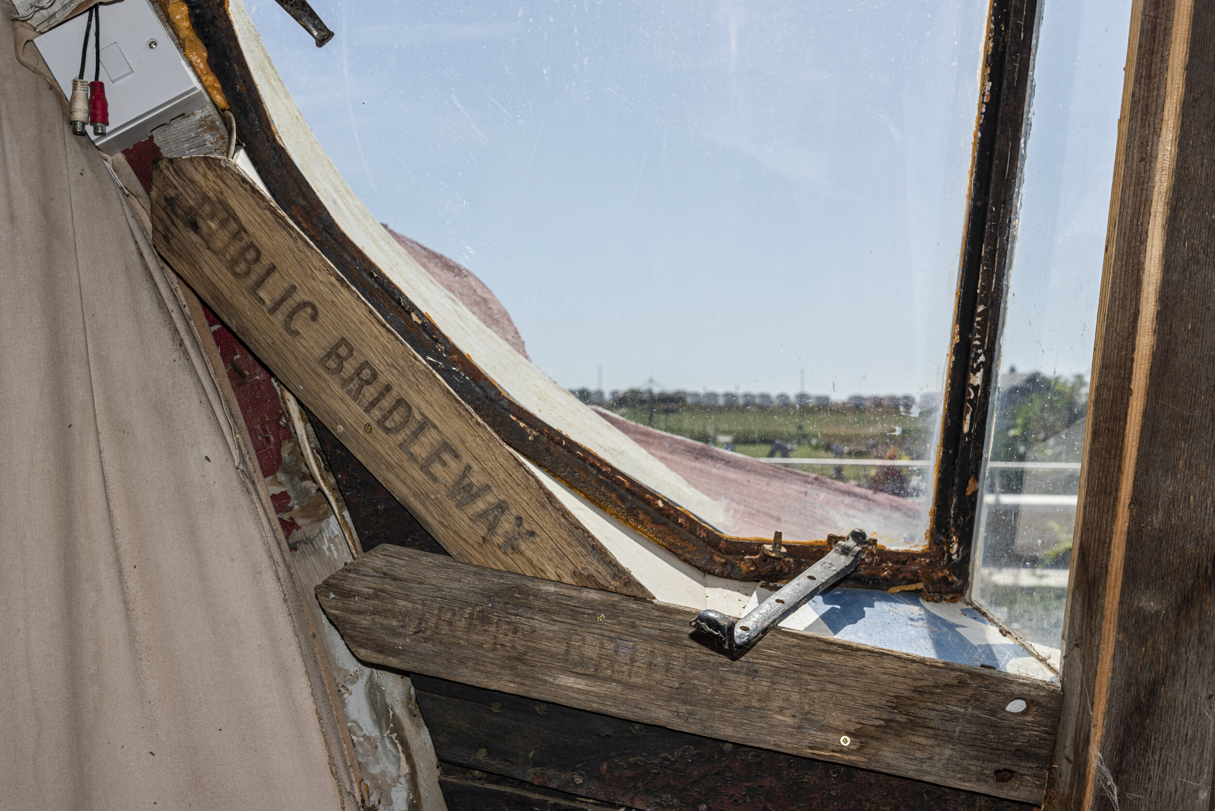
[[300,595],[132,224],[0,44],[0,807],[352,809]]

